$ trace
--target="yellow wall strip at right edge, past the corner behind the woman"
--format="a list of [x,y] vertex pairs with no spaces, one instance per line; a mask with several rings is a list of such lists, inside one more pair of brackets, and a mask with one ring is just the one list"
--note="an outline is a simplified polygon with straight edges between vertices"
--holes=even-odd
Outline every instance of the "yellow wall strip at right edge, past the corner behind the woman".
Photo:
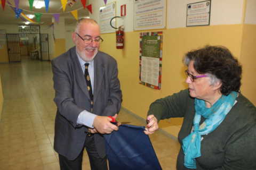
[[243,65],[242,94],[256,105],[256,25],[244,24],[241,64]]

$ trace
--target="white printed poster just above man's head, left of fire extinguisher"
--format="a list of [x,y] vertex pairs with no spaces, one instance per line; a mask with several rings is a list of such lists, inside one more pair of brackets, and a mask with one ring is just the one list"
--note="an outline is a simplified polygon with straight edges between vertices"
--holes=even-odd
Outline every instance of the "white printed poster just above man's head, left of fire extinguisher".
[[[116,2],[107,4],[106,6],[100,7],[100,33],[111,33],[116,30],[110,26],[110,20],[116,16]],[[112,25],[116,27],[115,20],[112,21]]]

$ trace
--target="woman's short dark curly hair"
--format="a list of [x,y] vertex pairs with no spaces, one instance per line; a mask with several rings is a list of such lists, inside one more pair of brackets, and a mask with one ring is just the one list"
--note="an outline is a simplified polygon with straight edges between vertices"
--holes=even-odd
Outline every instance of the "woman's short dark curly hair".
[[228,95],[231,91],[239,92],[242,66],[226,47],[205,46],[192,50],[183,59],[187,66],[191,61],[194,61],[194,68],[199,74],[209,73],[221,81],[221,94]]

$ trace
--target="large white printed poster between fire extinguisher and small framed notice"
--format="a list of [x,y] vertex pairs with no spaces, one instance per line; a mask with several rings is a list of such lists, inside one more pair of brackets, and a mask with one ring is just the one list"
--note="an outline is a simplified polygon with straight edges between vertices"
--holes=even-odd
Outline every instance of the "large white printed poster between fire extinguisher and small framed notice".
[[165,0],[134,0],[134,30],[165,28]]

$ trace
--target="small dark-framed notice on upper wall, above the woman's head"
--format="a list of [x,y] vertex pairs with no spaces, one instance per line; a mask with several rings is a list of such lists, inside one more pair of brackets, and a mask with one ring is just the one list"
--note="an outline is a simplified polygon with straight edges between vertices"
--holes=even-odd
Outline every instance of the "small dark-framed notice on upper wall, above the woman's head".
[[210,25],[211,0],[187,4],[187,27]]

